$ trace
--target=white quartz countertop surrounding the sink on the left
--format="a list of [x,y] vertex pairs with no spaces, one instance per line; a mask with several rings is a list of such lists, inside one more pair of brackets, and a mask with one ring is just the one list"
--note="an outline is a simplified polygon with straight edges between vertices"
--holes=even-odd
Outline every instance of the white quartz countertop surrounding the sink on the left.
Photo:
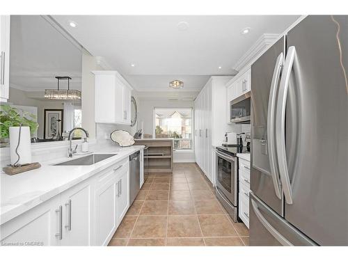
[[[143,145],[127,148],[112,146],[94,151],[94,153],[116,153],[117,155],[90,166],[52,166],[52,164],[69,160],[68,157],[64,157],[54,161],[40,162],[41,168],[17,175],[1,173],[0,225],[129,157],[143,147]],[[72,159],[84,156],[86,155],[75,155]]]

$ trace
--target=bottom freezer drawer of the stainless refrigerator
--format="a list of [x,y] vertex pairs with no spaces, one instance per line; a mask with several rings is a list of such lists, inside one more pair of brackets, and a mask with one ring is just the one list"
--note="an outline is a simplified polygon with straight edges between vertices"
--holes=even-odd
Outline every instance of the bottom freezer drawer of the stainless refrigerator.
[[251,246],[316,246],[252,192],[249,194]]

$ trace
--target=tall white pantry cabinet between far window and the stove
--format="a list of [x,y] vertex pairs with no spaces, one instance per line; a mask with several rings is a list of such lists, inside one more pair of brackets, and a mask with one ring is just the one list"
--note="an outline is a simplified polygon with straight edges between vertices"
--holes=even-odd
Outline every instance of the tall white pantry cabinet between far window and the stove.
[[210,77],[194,102],[195,158],[215,184],[215,150],[226,132],[226,86],[232,77]]

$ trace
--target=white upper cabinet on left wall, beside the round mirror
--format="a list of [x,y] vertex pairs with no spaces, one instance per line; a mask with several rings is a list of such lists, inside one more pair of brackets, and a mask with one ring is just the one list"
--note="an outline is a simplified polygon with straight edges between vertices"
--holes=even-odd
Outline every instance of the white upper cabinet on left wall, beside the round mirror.
[[95,74],[95,122],[131,124],[132,87],[116,71]]

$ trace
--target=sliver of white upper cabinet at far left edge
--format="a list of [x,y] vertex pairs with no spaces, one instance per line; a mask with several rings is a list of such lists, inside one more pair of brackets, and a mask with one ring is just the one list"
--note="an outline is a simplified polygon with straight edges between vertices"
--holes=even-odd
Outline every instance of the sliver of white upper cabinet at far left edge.
[[0,15],[0,102],[8,100],[10,79],[10,15]]

